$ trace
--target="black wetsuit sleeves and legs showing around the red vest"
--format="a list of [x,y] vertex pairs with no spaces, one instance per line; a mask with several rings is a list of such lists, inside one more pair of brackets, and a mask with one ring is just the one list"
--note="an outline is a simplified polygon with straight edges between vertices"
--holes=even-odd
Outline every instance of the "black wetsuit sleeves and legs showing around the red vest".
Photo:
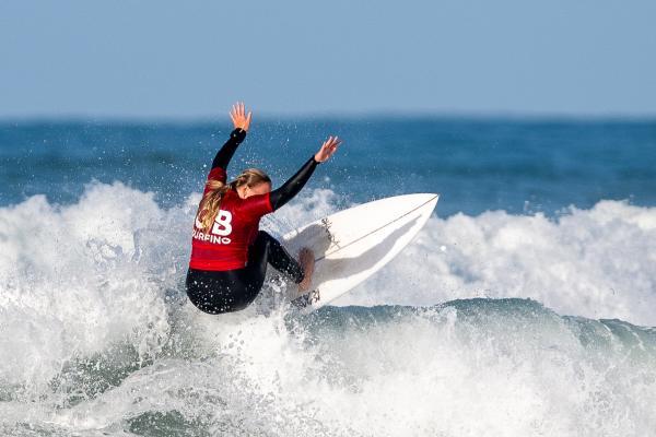
[[[216,153],[212,168],[226,169],[245,137],[244,130],[235,129],[231,133],[230,140]],[[282,187],[270,192],[273,211],[284,205],[301,191],[317,164],[314,156],[311,157]],[[248,247],[248,261],[245,268],[225,271],[189,269],[186,281],[187,296],[196,307],[209,314],[244,309],[253,303],[261,290],[267,273],[267,263],[289,275],[295,283],[303,281],[303,269],[298,262],[276,238],[259,231],[255,241]]]

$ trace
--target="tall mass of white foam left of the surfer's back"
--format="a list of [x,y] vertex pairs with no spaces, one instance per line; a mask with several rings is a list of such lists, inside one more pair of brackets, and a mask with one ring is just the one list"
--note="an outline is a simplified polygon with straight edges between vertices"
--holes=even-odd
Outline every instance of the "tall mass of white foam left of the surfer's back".
[[[0,210],[0,378],[38,386],[71,356],[126,338],[156,350],[161,285],[181,269],[167,255],[187,250],[167,231],[176,213],[120,184],[94,185],[69,206],[37,196]],[[141,262],[150,249],[159,258]]]

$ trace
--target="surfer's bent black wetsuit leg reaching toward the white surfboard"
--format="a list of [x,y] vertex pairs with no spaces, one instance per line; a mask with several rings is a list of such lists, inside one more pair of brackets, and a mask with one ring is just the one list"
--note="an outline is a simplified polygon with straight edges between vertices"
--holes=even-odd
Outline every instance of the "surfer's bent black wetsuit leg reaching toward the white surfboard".
[[263,280],[267,273],[267,263],[290,276],[296,284],[305,277],[298,261],[282,247],[280,241],[268,233],[259,231],[254,244],[248,248],[248,267],[246,269],[253,269],[254,273]]

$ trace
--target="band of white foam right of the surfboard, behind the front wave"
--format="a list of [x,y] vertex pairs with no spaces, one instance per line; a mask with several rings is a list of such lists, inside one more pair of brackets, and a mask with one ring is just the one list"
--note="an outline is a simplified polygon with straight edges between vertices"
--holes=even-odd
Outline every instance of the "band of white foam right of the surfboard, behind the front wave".
[[[437,205],[440,209],[440,205]],[[340,305],[530,297],[561,314],[656,324],[656,208],[602,201],[558,220],[494,211],[432,218]]]

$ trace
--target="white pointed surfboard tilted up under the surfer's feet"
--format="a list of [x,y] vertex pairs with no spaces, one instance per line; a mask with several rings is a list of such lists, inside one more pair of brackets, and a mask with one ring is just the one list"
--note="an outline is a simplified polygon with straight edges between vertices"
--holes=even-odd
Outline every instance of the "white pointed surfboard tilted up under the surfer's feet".
[[293,304],[304,312],[313,311],[370,277],[414,238],[438,197],[421,193],[380,199],[284,235],[283,244],[292,253],[301,247],[315,253],[312,291]]

